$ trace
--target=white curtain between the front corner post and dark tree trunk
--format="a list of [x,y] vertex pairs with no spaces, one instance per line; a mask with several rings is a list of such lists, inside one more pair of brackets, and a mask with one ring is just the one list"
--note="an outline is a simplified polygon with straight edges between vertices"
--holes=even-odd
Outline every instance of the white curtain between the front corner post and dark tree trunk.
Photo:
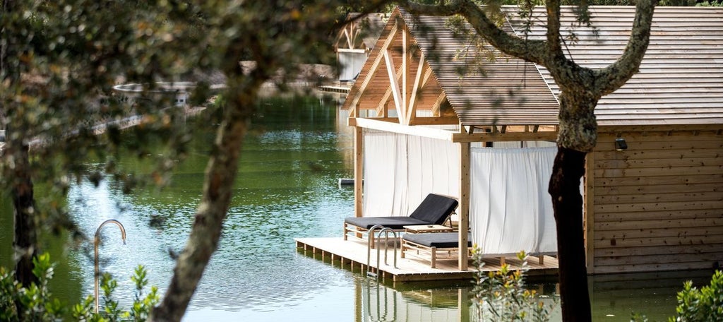
[[547,184],[557,148],[472,148],[470,226],[485,254],[557,252]]

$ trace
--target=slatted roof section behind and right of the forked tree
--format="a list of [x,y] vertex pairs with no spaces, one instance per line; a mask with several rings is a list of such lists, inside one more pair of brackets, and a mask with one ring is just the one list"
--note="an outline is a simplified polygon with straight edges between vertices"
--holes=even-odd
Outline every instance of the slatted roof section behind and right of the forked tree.
[[[622,54],[635,7],[590,11],[599,37],[589,27],[576,27],[578,41],[568,41],[566,55],[585,67],[604,67]],[[505,7],[505,12],[512,25],[521,28],[517,8]],[[561,13],[561,26],[574,24],[572,7],[562,7]],[[534,20],[529,38],[544,39],[544,7],[536,8]],[[569,29],[563,31],[569,35]],[[557,95],[560,89],[552,76],[539,69]],[[723,8],[656,7],[638,74],[600,99],[595,114],[600,125],[723,123]]]

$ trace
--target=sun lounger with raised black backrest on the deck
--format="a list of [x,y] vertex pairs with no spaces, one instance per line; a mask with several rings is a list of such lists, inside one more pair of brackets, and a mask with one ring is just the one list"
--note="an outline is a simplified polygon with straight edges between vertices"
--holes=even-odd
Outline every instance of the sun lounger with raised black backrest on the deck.
[[441,225],[450,218],[457,205],[454,198],[430,193],[408,217],[347,217],[344,219],[344,240],[347,240],[349,234],[363,237],[375,225],[400,232],[404,230],[404,226]]

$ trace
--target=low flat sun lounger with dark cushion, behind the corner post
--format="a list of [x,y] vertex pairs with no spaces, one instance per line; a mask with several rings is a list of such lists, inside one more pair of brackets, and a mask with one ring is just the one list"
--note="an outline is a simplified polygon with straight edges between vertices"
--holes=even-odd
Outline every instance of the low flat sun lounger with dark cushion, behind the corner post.
[[[467,247],[471,250],[471,236],[467,236]],[[411,255],[429,260],[430,266],[437,266],[437,258],[457,258],[459,253],[458,232],[428,232],[422,234],[404,234],[401,242],[401,258]]]

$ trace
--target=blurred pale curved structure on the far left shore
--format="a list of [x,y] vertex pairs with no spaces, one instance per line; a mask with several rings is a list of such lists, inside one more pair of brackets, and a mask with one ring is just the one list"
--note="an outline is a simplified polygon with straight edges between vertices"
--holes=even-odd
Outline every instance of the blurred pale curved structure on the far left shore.
[[156,82],[155,88],[149,90],[145,84],[116,85],[113,90],[119,94],[122,101],[134,103],[147,99],[158,101],[169,98],[174,106],[186,106],[190,92],[196,87],[196,82]]

